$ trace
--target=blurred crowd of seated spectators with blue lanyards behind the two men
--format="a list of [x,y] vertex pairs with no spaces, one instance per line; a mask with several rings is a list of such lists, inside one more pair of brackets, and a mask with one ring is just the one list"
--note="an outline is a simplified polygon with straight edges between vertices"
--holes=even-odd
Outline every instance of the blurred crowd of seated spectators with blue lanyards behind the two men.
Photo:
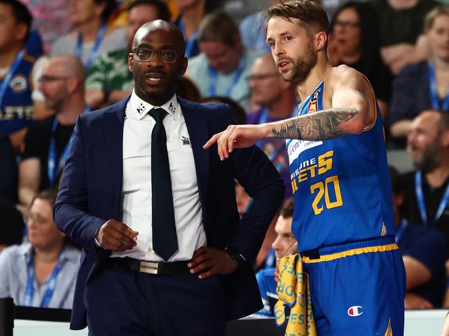
[[[184,34],[189,66],[177,88],[181,97],[229,103],[236,123],[297,113],[296,86],[280,77],[265,41],[265,8],[238,22],[222,10],[225,2],[69,0],[67,6],[61,0],[0,0],[0,251],[6,248],[0,254],[0,296],[21,305],[70,308],[79,253],[52,222],[55,190],[78,115],[133,91],[127,57],[142,24],[164,19]],[[337,2],[344,4],[328,12],[329,61],[367,77],[388,148],[409,150],[416,168],[391,170],[397,243],[407,273],[405,306],[449,307],[449,5]],[[287,249],[282,239],[294,242],[294,205],[285,141],[256,145],[286,186],[285,206],[255,265],[261,288],[268,288],[261,293],[269,315],[276,258]],[[251,200],[238,184],[236,197],[241,216]],[[46,302],[54,276],[58,294]]]

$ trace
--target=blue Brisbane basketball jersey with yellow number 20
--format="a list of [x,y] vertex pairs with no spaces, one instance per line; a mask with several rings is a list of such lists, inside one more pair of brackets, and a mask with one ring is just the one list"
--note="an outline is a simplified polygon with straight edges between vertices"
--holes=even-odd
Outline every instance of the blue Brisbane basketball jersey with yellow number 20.
[[[299,115],[327,109],[324,80]],[[374,94],[373,94],[374,95]],[[376,237],[394,237],[392,191],[379,106],[360,135],[287,140],[294,192],[292,232],[300,252]]]

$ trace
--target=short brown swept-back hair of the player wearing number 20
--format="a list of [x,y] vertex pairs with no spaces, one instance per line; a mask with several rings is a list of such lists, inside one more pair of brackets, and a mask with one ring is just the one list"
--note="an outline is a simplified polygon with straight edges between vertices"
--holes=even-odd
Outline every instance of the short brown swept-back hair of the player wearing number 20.
[[294,22],[297,19],[299,26],[305,28],[307,32],[329,33],[329,19],[325,10],[316,2],[309,0],[291,0],[285,3],[277,3],[267,10],[267,23],[271,17],[282,17]]

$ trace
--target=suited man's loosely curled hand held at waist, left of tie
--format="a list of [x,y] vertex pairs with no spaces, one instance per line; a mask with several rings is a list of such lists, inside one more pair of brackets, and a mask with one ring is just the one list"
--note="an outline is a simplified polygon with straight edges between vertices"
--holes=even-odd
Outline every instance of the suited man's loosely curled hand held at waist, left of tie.
[[115,252],[123,252],[131,250],[137,245],[137,231],[131,230],[126,224],[115,219],[109,219],[99,230],[95,239],[99,242],[99,246],[105,250]]

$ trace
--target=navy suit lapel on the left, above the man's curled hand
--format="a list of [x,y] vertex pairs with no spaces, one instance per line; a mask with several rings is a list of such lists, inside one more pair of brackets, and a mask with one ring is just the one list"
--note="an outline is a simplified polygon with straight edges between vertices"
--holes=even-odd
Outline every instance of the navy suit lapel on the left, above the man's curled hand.
[[120,209],[117,219],[122,220],[122,184],[123,184],[123,126],[125,108],[128,99],[119,101],[111,106],[111,110],[104,114],[104,157],[107,158],[108,174],[113,186],[113,202],[115,209]]

